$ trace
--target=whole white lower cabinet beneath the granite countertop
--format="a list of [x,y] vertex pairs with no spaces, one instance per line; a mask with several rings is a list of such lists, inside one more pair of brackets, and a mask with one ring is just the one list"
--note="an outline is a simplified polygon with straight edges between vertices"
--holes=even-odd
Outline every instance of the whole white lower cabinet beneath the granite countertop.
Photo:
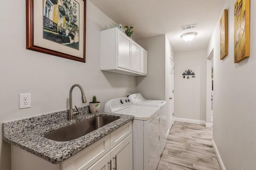
[[132,121],[58,164],[12,145],[12,170],[132,170]]

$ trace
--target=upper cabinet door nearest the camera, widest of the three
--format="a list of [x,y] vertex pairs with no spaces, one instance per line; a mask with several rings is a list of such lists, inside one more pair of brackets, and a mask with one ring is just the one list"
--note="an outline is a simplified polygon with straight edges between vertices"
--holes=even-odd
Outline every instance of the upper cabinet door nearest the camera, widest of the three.
[[130,38],[118,33],[117,67],[130,69]]

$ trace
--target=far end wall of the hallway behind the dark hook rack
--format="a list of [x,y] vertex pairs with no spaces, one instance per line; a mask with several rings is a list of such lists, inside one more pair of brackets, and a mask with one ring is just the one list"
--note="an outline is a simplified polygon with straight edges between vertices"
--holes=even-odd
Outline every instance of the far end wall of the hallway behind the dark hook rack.
[[[183,78],[188,69],[195,78]],[[174,94],[174,117],[206,121],[206,50],[175,53]]]

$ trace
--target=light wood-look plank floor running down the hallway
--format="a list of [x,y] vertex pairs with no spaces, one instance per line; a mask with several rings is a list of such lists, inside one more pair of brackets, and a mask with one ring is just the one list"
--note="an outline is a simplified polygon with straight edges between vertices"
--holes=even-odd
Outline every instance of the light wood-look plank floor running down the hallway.
[[157,170],[220,170],[212,148],[212,128],[175,122]]

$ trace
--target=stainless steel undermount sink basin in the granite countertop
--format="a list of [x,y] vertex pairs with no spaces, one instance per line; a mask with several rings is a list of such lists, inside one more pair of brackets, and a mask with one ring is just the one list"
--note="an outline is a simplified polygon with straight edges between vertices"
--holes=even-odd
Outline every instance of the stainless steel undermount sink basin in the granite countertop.
[[104,116],[93,117],[90,119],[86,119],[85,121],[75,123],[73,125],[68,125],[64,128],[59,128],[52,132],[46,133],[43,136],[45,138],[56,141],[69,141],[84,136],[85,134],[88,134],[93,130],[103,127],[117,119],[119,118]]

